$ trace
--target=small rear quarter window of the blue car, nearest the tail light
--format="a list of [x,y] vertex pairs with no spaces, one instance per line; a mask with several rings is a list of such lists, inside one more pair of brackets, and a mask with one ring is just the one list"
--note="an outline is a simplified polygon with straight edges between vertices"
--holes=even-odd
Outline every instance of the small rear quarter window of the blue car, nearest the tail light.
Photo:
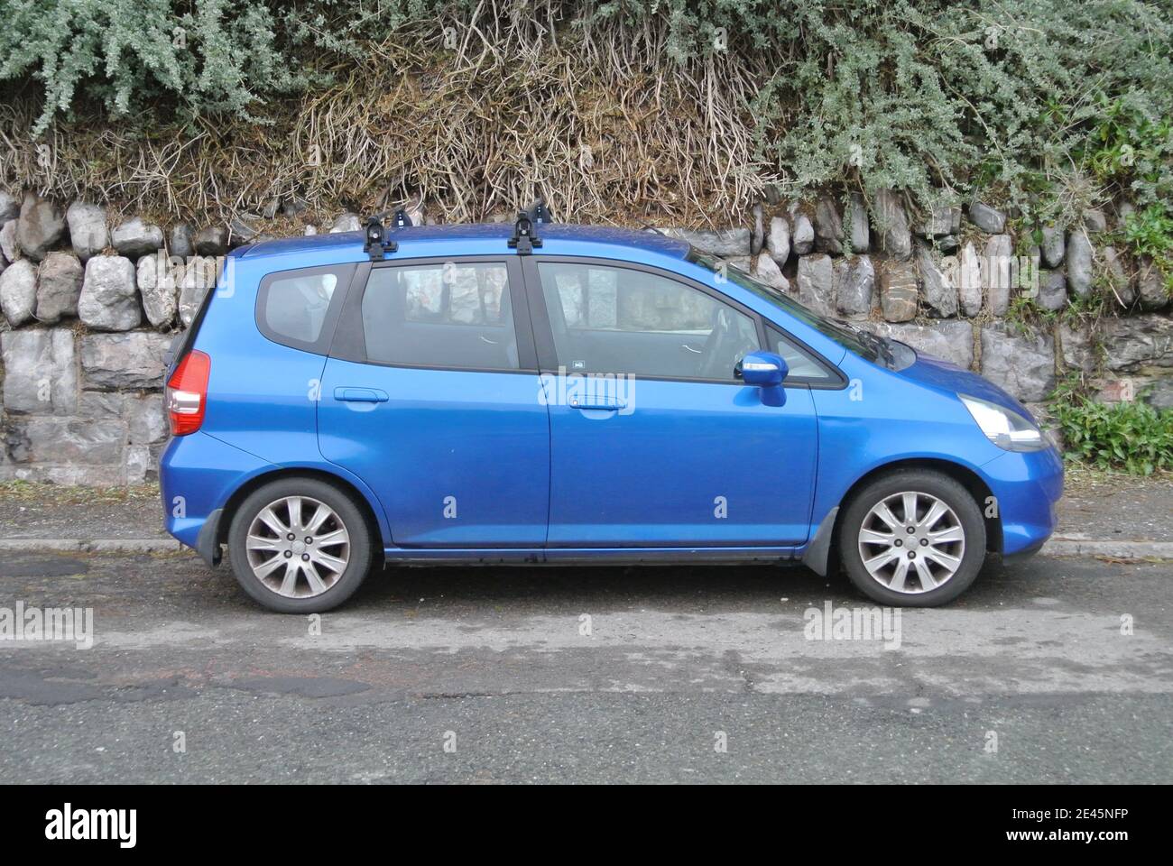
[[262,333],[274,343],[325,354],[353,272],[354,265],[335,265],[270,273],[257,293]]

